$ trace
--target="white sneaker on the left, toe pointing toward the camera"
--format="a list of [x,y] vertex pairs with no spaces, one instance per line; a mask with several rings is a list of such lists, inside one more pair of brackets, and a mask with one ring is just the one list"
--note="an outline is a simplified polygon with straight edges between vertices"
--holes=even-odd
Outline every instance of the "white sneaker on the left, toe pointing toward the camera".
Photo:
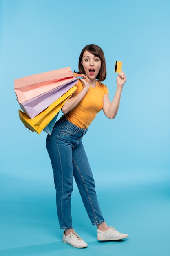
[[62,241],[75,248],[86,248],[88,246],[75,231],[71,232],[68,236],[65,236],[63,233]]

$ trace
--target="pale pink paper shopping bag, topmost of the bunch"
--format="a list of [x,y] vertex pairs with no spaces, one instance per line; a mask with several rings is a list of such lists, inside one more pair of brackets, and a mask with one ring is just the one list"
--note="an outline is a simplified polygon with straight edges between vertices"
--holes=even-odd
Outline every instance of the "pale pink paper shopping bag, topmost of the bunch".
[[44,92],[53,90],[54,88],[71,81],[74,78],[71,68],[64,67],[58,70],[52,70],[32,76],[14,80],[14,89],[18,98],[18,102],[22,103],[32,99]]

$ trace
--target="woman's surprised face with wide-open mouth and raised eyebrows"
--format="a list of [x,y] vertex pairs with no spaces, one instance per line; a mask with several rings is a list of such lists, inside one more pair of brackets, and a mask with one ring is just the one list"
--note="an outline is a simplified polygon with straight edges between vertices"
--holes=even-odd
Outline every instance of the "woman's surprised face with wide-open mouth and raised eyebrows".
[[85,71],[85,75],[89,79],[96,79],[101,68],[101,60],[99,57],[85,51],[82,58],[82,65]]

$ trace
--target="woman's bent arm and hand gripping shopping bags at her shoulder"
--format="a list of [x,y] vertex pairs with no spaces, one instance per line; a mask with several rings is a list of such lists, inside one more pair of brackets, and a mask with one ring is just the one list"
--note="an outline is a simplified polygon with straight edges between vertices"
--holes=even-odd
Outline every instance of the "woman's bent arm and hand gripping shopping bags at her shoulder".
[[83,85],[83,89],[75,95],[75,93],[73,94],[72,97],[70,97],[70,99],[68,99],[63,107],[62,107],[62,112],[63,114],[68,113],[70,110],[72,110],[73,108],[75,108],[79,102],[84,98],[84,96],[86,95],[86,93],[88,92],[90,85],[88,82],[85,81],[85,79],[80,79],[82,81],[82,85]]

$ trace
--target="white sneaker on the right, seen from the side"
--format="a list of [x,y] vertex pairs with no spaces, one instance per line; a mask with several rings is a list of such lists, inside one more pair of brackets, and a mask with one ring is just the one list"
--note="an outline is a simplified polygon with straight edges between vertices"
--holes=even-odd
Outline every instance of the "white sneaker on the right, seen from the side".
[[108,230],[102,232],[97,229],[97,240],[120,240],[128,237],[128,234],[122,234],[115,227],[108,227]]

